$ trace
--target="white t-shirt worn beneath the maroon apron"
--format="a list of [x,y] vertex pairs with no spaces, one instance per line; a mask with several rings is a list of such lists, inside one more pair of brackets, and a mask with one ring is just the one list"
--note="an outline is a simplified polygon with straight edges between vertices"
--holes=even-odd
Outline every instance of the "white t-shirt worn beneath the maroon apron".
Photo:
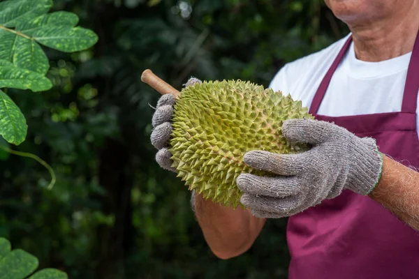
[[[270,87],[285,95],[290,93],[294,100],[301,100],[303,106],[309,107],[348,36],[320,52],[287,63],[275,75]],[[351,43],[330,81],[318,114],[350,116],[400,112],[410,58],[411,52],[380,62],[360,61]],[[419,136],[419,98],[416,126]]]

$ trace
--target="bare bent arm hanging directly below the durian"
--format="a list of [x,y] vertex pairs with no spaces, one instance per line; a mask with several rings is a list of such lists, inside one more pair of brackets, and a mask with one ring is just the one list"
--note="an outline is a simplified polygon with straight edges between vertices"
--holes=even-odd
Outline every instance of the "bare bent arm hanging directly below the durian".
[[247,251],[265,224],[250,211],[214,204],[200,195],[195,197],[195,212],[208,246],[221,259]]

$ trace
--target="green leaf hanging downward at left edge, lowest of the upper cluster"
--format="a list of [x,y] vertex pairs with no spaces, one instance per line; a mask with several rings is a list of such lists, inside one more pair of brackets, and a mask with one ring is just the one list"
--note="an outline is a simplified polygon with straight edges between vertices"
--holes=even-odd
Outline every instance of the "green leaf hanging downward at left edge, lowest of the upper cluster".
[[0,135],[11,144],[19,145],[27,136],[27,122],[19,107],[0,90]]

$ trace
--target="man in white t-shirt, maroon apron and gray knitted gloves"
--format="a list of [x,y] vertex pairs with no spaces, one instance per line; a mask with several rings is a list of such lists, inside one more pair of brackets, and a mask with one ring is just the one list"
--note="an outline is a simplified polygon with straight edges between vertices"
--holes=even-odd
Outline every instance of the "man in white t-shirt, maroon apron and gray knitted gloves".
[[[277,176],[239,176],[246,211],[200,195],[193,209],[221,259],[248,250],[265,218],[290,216],[291,279],[419,278],[419,0],[325,3],[351,33],[288,63],[271,83],[316,117],[282,130],[313,148],[247,153],[245,163]],[[163,96],[153,119],[166,169],[174,103]]]

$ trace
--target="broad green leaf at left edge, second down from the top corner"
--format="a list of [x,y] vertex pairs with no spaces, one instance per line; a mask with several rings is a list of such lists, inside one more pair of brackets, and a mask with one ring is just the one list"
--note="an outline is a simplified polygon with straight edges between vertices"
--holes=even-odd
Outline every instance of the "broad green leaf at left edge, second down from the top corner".
[[19,68],[45,75],[50,62],[42,48],[34,40],[0,29],[0,59],[14,63]]

